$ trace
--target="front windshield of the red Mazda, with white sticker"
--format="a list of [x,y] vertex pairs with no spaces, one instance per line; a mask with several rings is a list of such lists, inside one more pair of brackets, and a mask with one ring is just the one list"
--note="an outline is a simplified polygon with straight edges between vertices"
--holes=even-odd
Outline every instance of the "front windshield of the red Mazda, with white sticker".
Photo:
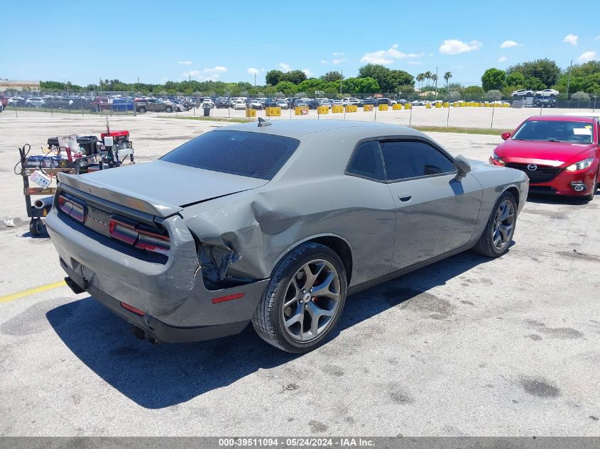
[[591,143],[592,123],[579,121],[526,121],[513,140],[547,140],[549,142]]

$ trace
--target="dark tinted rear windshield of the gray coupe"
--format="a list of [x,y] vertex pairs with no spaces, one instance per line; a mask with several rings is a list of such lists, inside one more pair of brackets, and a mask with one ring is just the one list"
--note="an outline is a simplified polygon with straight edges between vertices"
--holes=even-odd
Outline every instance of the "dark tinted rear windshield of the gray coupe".
[[167,153],[161,160],[213,172],[271,180],[300,142],[280,135],[212,131]]

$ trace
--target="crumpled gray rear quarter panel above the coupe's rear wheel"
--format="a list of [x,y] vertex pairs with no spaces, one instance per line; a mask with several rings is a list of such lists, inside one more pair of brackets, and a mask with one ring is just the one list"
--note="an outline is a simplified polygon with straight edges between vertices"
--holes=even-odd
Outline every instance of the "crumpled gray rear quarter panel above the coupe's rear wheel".
[[[349,245],[351,284],[391,271],[396,226],[391,192],[386,184],[344,174],[358,138],[328,141],[324,134],[315,136],[303,138],[280,173],[263,187],[181,212],[201,242],[204,273],[216,269],[219,273],[212,274],[219,279],[225,271],[233,277],[266,279],[295,246],[324,235]],[[214,268],[206,263],[211,258]]]

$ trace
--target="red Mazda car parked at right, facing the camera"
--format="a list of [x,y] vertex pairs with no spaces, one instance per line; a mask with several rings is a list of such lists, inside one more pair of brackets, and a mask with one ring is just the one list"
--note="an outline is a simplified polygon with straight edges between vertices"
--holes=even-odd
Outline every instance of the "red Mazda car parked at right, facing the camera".
[[594,199],[599,183],[600,122],[594,116],[534,116],[490,157],[493,165],[522,170],[529,192]]

